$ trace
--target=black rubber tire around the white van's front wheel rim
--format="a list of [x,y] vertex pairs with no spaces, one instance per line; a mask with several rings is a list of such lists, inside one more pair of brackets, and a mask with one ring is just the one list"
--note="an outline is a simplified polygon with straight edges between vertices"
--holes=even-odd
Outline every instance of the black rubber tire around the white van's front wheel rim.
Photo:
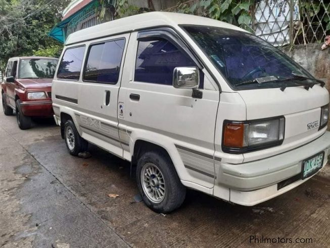
[[[160,202],[155,202],[151,198],[152,196],[148,196],[145,192],[147,190],[146,186],[143,185],[143,177],[147,177],[146,168],[150,167],[151,164],[154,164],[160,172],[162,176],[162,181],[164,182],[165,190],[164,196]],[[144,175],[143,175],[144,174]],[[157,172],[155,174],[158,174]],[[158,174],[160,175],[160,174]],[[151,175],[152,176],[152,175]],[[152,177],[150,177],[152,178]],[[156,180],[156,177],[154,177]],[[157,177],[158,179],[158,177]],[[148,151],[145,152],[137,162],[136,168],[136,181],[137,186],[140,191],[140,194],[147,204],[147,206],[157,213],[169,213],[173,210],[179,208],[185,198],[186,189],[180,182],[180,179],[175,171],[174,165],[167,154],[164,154],[162,151]],[[152,180],[151,180],[152,181]],[[157,183],[154,185],[160,185],[160,181],[156,180]],[[148,184],[148,183],[147,183]],[[152,186],[152,183],[149,184]],[[159,187],[153,187],[155,190],[160,190]],[[151,189],[151,187],[150,187]],[[153,191],[155,192],[155,191]],[[151,191],[148,193],[152,194]],[[159,196],[159,195],[158,195]],[[157,195],[156,195],[157,197]]]

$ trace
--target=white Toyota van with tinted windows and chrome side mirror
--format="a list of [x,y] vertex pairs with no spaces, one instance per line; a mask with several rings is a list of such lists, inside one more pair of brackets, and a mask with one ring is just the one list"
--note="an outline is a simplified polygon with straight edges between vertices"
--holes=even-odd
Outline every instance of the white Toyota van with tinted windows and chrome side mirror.
[[130,161],[156,212],[191,188],[255,205],[327,163],[324,82],[249,32],[152,12],[71,34],[52,87],[69,152]]

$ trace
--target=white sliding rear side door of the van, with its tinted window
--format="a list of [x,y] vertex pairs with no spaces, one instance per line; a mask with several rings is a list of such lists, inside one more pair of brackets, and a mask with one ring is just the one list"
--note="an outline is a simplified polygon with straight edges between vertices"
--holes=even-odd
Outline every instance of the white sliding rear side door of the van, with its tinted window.
[[129,35],[89,44],[76,114],[82,137],[111,153],[123,155],[117,117],[117,100],[126,39]]

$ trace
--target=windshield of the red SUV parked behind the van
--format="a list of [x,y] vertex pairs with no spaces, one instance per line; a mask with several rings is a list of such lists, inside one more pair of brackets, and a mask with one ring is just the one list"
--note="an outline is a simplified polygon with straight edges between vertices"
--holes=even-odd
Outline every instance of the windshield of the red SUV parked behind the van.
[[21,59],[19,78],[53,78],[57,59]]

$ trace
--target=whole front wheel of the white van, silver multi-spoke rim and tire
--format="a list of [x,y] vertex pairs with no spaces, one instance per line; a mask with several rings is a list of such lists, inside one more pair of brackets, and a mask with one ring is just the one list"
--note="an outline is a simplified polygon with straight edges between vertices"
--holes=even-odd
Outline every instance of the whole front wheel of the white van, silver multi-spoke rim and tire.
[[171,159],[160,151],[146,152],[138,159],[136,179],[145,203],[157,213],[172,212],[185,198]]

